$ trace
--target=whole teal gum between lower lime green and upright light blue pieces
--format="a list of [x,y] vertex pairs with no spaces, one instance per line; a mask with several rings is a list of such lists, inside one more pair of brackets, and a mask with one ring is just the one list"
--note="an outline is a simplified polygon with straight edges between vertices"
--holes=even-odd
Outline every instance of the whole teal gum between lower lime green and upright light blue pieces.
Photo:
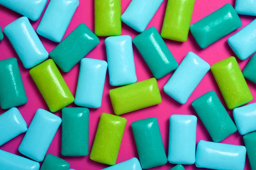
[[135,121],[131,124],[131,128],[141,167],[148,169],[166,164],[167,158],[157,118]]

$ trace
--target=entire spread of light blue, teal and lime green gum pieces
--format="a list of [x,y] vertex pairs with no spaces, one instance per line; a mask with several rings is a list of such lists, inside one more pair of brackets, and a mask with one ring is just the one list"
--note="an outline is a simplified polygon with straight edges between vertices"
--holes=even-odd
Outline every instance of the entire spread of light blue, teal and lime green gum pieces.
[[[0,145],[26,132],[18,150],[27,158],[0,150],[0,170],[39,170],[41,161],[41,170],[72,170],[67,161],[52,154],[46,155],[61,123],[61,154],[87,156],[87,108],[101,107],[107,68],[110,84],[120,86],[109,91],[116,115],[101,114],[90,151],[93,161],[112,165],[104,170],[141,170],[164,165],[167,161],[177,164],[171,170],[184,170],[182,164],[215,170],[243,170],[246,153],[251,169],[256,170],[256,132],[253,132],[256,131],[256,103],[242,106],[253,99],[244,78],[256,83],[256,55],[243,72],[236,57],[210,66],[193,52],[188,52],[178,65],[163,41],[166,38],[184,42],[190,30],[198,45],[207,48],[242,26],[238,14],[256,16],[256,0],[236,0],[235,8],[227,3],[191,26],[195,0],[168,0],[161,34],[155,27],[145,28],[163,0],[132,0],[122,15],[120,0],[95,0],[95,33],[81,23],[64,40],[62,38],[79,6],[79,0],[50,0],[35,31],[29,19],[38,20],[46,3],[47,0],[0,0],[0,5],[24,16],[3,28],[3,32],[23,66],[30,69],[30,76],[52,112],[39,108],[27,127],[15,108],[28,101],[17,59],[1,60],[0,106],[9,110],[0,115]],[[121,21],[140,34],[133,40],[129,35],[121,36]],[[60,43],[48,54],[38,34]],[[97,36],[107,37],[108,63],[84,58],[99,44]],[[0,40],[3,40],[2,32]],[[137,82],[132,42],[154,78]],[[229,37],[227,42],[239,59],[250,57],[256,52],[256,20]],[[74,97],[58,68],[69,72],[80,61]],[[184,104],[209,69],[227,107],[233,109],[236,124],[216,93],[209,91],[195,99],[192,107],[212,141],[201,140],[196,147],[197,117],[175,114],[169,120],[169,152],[166,156],[157,118],[141,119],[131,124],[139,158],[116,164],[127,122],[121,115],[162,102],[156,79],[174,71],[163,90]],[[66,107],[73,102],[79,107]],[[53,114],[59,110],[62,111],[62,118]],[[243,135],[245,146],[218,143],[237,130]]]

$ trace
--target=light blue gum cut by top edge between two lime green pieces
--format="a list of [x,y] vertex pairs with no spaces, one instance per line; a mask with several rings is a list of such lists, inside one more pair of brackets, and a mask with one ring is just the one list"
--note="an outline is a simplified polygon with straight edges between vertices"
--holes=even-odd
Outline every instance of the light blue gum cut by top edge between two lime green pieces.
[[132,0],[121,20],[136,31],[143,32],[162,3],[163,0]]

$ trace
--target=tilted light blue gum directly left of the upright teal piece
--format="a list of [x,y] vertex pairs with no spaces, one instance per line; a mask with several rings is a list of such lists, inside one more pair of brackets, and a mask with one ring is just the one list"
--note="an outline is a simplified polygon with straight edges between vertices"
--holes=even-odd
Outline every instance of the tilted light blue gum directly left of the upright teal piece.
[[60,125],[60,117],[38,109],[19,146],[20,153],[35,161],[43,161]]

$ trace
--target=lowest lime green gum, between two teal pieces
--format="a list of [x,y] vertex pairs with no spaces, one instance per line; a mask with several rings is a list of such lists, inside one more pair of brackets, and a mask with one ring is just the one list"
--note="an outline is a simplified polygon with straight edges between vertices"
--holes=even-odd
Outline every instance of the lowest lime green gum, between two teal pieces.
[[102,113],[90,153],[90,159],[103,164],[116,164],[127,120],[120,116]]

